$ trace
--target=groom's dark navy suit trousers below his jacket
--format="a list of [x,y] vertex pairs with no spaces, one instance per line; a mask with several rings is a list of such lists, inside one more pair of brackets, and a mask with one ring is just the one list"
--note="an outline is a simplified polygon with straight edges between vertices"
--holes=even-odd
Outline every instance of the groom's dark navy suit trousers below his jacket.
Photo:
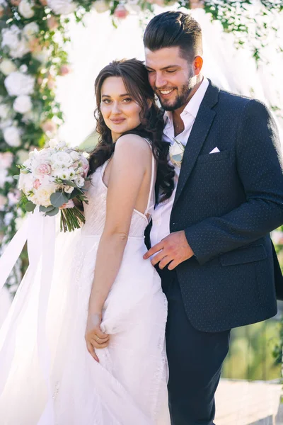
[[230,330],[211,333],[192,327],[185,312],[177,273],[157,269],[168,300],[166,350],[171,424],[213,425],[214,393],[229,351]]

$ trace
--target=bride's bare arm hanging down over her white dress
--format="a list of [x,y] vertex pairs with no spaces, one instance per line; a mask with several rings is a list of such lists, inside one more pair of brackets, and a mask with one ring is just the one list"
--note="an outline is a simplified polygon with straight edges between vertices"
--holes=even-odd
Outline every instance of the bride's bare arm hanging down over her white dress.
[[[146,169],[149,169],[151,164],[151,150],[141,137],[125,135],[116,143],[108,184],[105,227],[98,246],[96,272],[88,306],[87,331],[88,334],[92,334],[89,341],[95,348],[107,345],[107,336],[101,334],[100,337],[96,332],[99,331],[98,322],[104,302],[119,271],[134,206]],[[94,338],[91,328],[94,331]],[[97,336],[102,343],[100,346],[93,344]]]

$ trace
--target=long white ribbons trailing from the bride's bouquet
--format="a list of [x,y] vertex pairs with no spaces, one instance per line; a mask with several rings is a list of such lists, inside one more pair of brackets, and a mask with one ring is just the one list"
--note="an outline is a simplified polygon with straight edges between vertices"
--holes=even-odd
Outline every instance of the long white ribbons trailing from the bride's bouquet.
[[[18,232],[8,244],[4,254],[0,258],[0,290],[11,273],[26,241],[28,241],[29,259],[27,273],[31,276],[35,276],[37,268],[40,267],[40,294],[37,311],[37,350],[40,366],[47,386],[48,402],[37,425],[54,424],[52,390],[50,385],[50,349],[48,347],[45,324],[48,306],[47,300],[50,296],[54,267],[55,237],[55,217],[44,217],[42,212],[36,208],[33,213],[28,214],[28,218],[25,220],[22,227],[18,229]],[[13,327],[16,327],[16,322],[11,323],[8,332],[13,332]],[[1,355],[2,354],[5,356],[5,349],[4,352],[1,352]]]

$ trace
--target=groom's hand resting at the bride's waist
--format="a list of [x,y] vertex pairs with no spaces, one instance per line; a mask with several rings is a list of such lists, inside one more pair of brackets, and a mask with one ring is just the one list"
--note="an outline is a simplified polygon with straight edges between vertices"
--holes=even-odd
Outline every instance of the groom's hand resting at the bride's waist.
[[[158,252],[158,254],[156,254]],[[149,259],[151,255],[156,254],[151,260],[153,266],[159,263],[159,268],[164,268],[168,263],[168,270],[173,270],[183,261],[190,259],[194,253],[190,245],[187,243],[184,230],[168,234],[158,244],[152,246],[149,251],[144,254],[144,259]]]

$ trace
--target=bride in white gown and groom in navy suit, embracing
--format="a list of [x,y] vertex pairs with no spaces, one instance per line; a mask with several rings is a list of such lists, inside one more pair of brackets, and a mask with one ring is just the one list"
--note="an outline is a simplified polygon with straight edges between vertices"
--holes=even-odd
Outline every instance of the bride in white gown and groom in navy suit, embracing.
[[231,329],[277,312],[272,116],[202,75],[186,13],[144,47],[98,74],[86,223],[58,237],[48,300],[26,273],[1,329],[1,425],[212,425]]

